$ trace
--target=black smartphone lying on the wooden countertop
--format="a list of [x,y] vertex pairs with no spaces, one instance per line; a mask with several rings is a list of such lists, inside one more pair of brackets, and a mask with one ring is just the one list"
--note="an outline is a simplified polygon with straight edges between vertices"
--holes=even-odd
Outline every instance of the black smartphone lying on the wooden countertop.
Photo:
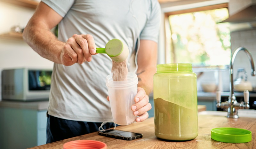
[[141,133],[116,130],[116,129],[108,129],[105,131],[99,131],[99,135],[106,136],[106,137],[112,137],[112,138],[116,138],[116,139],[122,139],[122,140],[134,140],[134,139],[141,138],[143,136]]

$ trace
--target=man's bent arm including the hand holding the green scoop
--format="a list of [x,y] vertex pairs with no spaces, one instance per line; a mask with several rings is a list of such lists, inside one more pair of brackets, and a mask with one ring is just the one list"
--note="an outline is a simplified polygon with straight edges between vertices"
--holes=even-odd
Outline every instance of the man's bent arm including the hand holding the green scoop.
[[92,35],[76,35],[66,43],[51,32],[63,18],[48,5],[40,2],[23,32],[24,40],[42,57],[70,66],[91,61],[96,52]]

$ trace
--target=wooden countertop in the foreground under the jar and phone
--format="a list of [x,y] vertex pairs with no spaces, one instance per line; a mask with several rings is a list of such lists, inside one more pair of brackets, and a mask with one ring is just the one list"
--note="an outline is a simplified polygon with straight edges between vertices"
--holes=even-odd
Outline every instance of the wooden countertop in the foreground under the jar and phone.
[[[226,113],[226,112],[225,112]],[[248,143],[223,143],[211,138],[211,129],[218,127],[234,127],[252,131],[252,141]],[[131,141],[99,136],[98,132],[73,137],[45,145],[32,147],[30,149],[63,149],[63,144],[73,140],[98,140],[107,144],[108,149],[158,149],[158,148],[191,148],[191,149],[220,149],[220,148],[256,148],[256,118],[240,117],[238,119],[226,116],[203,115],[198,113],[198,136],[190,141],[175,142],[161,140],[155,136],[154,118],[148,118],[144,122],[132,123],[126,126],[116,127],[118,130],[142,133],[143,137]]]

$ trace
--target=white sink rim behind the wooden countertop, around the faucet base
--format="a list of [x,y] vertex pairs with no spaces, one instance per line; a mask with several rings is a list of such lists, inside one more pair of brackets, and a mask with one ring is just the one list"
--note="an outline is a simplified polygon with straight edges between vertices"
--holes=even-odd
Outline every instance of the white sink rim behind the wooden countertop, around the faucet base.
[[[198,112],[198,115],[216,115],[216,116],[227,116],[228,112],[226,111],[202,111]],[[256,118],[256,110],[254,109],[239,109],[239,117],[252,117]]]

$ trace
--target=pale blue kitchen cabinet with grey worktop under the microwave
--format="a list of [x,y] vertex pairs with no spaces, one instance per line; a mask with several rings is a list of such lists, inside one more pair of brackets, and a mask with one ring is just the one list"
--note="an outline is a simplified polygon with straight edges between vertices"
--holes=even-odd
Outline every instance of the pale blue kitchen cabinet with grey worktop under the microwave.
[[29,148],[46,144],[48,101],[0,102],[0,148]]

